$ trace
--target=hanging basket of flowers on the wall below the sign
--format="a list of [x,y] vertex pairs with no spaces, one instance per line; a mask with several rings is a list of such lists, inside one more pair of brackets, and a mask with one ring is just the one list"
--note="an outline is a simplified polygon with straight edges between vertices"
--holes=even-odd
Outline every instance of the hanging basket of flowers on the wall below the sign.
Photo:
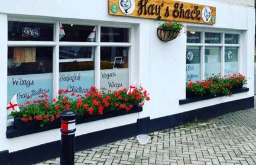
[[180,34],[183,30],[184,25],[176,21],[165,21],[161,23],[157,28],[157,36],[161,41],[168,42],[171,41]]

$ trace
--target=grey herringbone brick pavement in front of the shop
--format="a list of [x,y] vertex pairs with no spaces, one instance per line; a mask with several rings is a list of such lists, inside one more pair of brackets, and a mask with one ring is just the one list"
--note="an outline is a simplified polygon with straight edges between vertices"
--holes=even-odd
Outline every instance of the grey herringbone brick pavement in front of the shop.
[[132,137],[79,151],[75,164],[256,164],[255,108],[149,135],[145,146]]

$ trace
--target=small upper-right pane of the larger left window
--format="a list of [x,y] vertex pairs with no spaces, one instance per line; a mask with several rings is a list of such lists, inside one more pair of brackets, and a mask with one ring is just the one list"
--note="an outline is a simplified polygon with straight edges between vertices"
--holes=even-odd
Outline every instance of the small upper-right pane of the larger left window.
[[102,27],[101,42],[129,42],[129,29]]

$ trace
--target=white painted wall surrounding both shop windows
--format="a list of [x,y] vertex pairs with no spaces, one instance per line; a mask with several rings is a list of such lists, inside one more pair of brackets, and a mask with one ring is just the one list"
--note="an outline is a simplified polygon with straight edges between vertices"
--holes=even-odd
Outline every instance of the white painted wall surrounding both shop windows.
[[[210,0],[184,0],[203,5],[216,6],[216,24],[199,25],[187,24],[189,27],[206,27],[218,29],[235,29],[243,31],[242,35],[242,73],[247,75],[249,93],[236,94],[232,97],[221,97],[198,103],[179,105],[179,100],[185,98],[186,80],[186,34],[182,34],[174,41],[161,42],[156,35],[157,21],[154,19],[140,19],[128,17],[114,17],[108,15],[108,1],[37,1],[8,0],[0,6],[0,76],[2,78],[0,95],[0,151],[8,149],[10,152],[37,146],[60,139],[59,129],[43,133],[7,139],[6,112],[7,103],[7,16],[8,18],[35,18],[47,21],[68,21],[107,24],[133,24],[134,35],[134,63],[132,64],[132,82],[137,80],[150,91],[151,101],[144,111],[127,116],[109,118],[77,125],[76,135],[104,130],[116,126],[135,123],[137,118],[157,118],[171,114],[182,113],[196,108],[252,97],[254,95],[254,27],[255,11],[251,7],[242,5],[223,4]],[[15,5],[13,5],[15,4]]]

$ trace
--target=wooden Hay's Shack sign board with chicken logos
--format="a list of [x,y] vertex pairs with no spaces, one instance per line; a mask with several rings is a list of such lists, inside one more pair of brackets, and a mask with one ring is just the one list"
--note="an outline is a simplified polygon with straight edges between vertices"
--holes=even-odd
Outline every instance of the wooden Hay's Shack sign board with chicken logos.
[[171,0],[109,0],[109,14],[198,24],[215,24],[216,8]]

